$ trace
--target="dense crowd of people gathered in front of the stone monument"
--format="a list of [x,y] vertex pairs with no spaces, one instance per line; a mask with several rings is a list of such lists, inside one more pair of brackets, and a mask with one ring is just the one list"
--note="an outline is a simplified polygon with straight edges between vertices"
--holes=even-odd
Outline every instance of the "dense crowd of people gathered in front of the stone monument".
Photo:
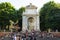
[[54,37],[52,33],[48,33],[46,31],[31,31],[31,32],[12,32],[9,34],[5,34],[3,37],[0,37],[0,40],[51,40]]

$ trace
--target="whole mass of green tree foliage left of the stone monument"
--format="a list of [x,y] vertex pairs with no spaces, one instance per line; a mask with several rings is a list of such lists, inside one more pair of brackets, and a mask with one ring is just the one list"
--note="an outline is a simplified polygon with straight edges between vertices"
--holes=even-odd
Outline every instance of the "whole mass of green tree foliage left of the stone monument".
[[[22,20],[23,11],[25,11],[24,7],[16,10],[9,2],[0,3],[0,28],[6,29],[6,26],[10,25],[10,20],[14,23]],[[19,25],[20,23],[22,24],[22,21],[19,22]]]

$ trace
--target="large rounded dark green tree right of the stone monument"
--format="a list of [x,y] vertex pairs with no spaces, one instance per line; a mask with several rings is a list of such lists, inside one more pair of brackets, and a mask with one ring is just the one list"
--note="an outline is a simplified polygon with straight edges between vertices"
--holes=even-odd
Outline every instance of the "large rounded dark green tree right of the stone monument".
[[41,30],[46,30],[48,28],[57,28],[57,21],[60,17],[57,17],[57,15],[59,15],[58,10],[60,11],[60,8],[54,1],[50,1],[44,4],[40,11]]

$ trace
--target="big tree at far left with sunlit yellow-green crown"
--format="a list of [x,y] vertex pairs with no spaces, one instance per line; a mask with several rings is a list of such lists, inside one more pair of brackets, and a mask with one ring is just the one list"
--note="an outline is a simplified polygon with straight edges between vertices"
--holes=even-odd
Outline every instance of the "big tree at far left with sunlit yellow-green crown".
[[[10,25],[11,15],[14,14],[15,8],[9,2],[0,3],[0,27],[6,29]],[[9,27],[8,27],[9,28]]]

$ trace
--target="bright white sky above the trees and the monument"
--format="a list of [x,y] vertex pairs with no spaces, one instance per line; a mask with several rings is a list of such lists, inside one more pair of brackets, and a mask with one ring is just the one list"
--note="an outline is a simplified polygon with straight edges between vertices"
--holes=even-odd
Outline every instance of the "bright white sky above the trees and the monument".
[[1,2],[10,2],[16,9],[21,7],[26,7],[30,3],[38,7],[40,9],[45,3],[49,1],[55,1],[56,3],[60,3],[60,0],[0,0]]

